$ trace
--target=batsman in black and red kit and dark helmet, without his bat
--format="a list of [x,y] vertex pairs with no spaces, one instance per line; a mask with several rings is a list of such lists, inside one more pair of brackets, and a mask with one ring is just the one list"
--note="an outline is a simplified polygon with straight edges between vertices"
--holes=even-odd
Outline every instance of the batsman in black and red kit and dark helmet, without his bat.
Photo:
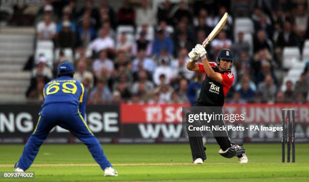
[[[205,73],[205,78],[199,93],[198,99],[192,107],[192,113],[208,112],[208,113],[222,113],[224,104],[224,97],[231,88],[234,75],[231,73],[233,64],[233,54],[229,49],[222,49],[217,56],[217,63],[209,63],[206,56],[205,48],[197,44],[191,52],[189,52],[190,61],[187,64],[187,69],[199,73]],[[195,63],[198,58],[201,58],[202,63]],[[211,120],[210,125],[224,127],[222,120]],[[194,120],[192,123],[186,125],[200,126],[199,120]],[[219,154],[226,158],[238,157],[240,163],[247,163],[248,159],[245,154],[245,149],[239,144],[233,143],[228,137],[227,131],[212,131],[217,143],[220,146]],[[202,164],[206,159],[203,145],[202,135],[200,131],[189,132],[189,143],[192,152],[192,159],[194,164]]]

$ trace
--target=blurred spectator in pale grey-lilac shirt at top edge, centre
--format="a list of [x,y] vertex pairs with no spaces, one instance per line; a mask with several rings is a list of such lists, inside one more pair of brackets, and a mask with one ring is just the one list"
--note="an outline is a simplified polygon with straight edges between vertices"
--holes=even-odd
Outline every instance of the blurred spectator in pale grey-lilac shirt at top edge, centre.
[[148,8],[147,0],[140,0],[140,8],[136,9],[135,24],[137,26],[144,24],[154,26],[156,24],[155,13],[152,8]]

